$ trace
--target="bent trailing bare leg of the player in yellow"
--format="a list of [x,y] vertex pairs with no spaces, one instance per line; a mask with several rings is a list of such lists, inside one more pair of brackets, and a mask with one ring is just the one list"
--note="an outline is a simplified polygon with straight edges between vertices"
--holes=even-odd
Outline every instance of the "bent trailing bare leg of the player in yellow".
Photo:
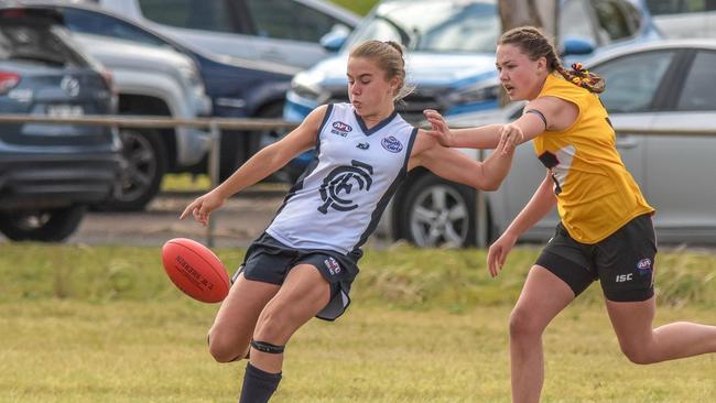
[[652,329],[655,297],[643,302],[607,301],[621,351],[634,363],[654,363],[716,352],[716,327],[676,322]]

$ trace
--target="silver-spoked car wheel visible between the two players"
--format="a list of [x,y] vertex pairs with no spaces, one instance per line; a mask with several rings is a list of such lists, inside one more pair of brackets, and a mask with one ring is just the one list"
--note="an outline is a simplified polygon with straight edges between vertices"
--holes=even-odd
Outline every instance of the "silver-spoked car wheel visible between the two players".
[[422,248],[475,244],[475,189],[424,175],[405,194],[401,238]]

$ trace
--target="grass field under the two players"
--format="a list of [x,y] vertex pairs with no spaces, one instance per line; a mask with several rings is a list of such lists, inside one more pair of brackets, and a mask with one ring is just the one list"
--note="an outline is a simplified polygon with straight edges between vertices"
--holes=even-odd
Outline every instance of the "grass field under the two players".
[[[242,251],[218,250],[227,265]],[[354,303],[286,349],[275,402],[508,402],[507,319],[538,249],[500,279],[484,251],[368,251]],[[716,324],[716,255],[659,258],[657,324]],[[235,402],[245,363],[219,364],[216,305],[166,280],[159,248],[0,244],[0,402]],[[649,367],[619,352],[593,286],[545,335],[544,402],[708,402],[716,356]]]

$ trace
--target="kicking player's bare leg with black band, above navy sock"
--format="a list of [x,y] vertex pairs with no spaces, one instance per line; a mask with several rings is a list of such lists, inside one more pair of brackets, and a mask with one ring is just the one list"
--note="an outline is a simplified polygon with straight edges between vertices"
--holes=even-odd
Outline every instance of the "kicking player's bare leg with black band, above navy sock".
[[[311,264],[291,270],[279,293],[259,316],[253,339],[284,346],[303,324],[323,309],[330,298],[330,286]],[[251,349],[251,364],[265,372],[278,373],[283,367],[283,353]]]

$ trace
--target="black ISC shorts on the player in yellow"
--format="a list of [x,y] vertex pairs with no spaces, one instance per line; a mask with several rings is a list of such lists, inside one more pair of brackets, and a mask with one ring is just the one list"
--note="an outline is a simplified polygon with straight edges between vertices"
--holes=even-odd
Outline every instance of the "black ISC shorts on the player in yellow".
[[562,224],[535,264],[562,279],[575,296],[599,280],[609,301],[647,301],[654,295],[657,239],[651,215],[639,216],[595,244],[572,239]]

